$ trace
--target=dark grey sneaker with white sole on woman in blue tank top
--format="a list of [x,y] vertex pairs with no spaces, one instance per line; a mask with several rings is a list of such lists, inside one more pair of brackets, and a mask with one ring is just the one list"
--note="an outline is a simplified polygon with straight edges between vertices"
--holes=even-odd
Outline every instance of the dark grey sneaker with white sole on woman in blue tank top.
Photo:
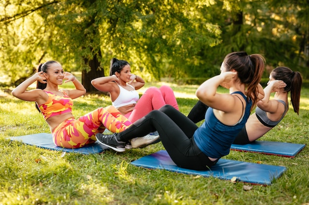
[[125,142],[118,141],[116,139],[116,133],[112,135],[104,135],[102,133],[98,133],[95,135],[95,137],[102,145],[108,146],[118,152],[125,151]]

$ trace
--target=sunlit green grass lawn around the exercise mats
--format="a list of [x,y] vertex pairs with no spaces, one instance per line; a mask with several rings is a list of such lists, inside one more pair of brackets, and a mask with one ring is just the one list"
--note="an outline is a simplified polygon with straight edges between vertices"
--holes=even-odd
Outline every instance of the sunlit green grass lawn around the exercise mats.
[[[162,83],[147,87],[151,85]],[[187,115],[196,102],[197,86],[168,85],[175,90],[180,111]],[[72,88],[72,84],[65,88]],[[279,126],[263,140],[307,144],[307,96],[309,89],[304,88],[300,116],[290,107]],[[74,103],[76,117],[111,104],[109,97],[101,94],[85,95]],[[161,143],[123,153],[107,150],[82,155],[11,142],[8,137],[50,130],[33,102],[18,100],[3,89],[0,116],[0,205],[309,205],[308,146],[295,158],[231,151],[224,158],[287,168],[269,186],[251,185],[130,164],[164,149]],[[252,189],[245,191],[244,185]]]

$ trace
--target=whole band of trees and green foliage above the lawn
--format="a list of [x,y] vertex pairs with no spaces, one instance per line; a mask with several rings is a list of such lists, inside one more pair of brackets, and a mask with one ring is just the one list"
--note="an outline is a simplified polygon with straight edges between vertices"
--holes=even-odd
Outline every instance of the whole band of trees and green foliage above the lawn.
[[9,83],[49,59],[108,75],[113,57],[146,80],[207,78],[240,50],[265,56],[265,77],[278,65],[309,76],[306,0],[4,0],[0,8],[0,80]]

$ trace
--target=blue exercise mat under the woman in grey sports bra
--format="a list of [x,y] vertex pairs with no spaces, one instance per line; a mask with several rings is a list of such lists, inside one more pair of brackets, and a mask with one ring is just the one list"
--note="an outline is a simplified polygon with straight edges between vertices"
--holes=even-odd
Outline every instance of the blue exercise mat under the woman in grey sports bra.
[[302,144],[255,141],[247,145],[232,144],[231,149],[236,151],[258,152],[283,157],[295,157],[296,154],[298,154],[304,147],[305,145]]

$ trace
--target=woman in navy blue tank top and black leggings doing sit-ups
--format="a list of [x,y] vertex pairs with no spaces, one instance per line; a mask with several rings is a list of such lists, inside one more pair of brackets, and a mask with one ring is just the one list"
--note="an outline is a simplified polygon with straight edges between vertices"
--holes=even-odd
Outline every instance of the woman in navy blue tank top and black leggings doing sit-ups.
[[[166,105],[135,121],[123,132],[97,134],[97,140],[121,151],[126,141],[157,130],[176,165],[207,170],[222,156],[229,154],[234,138],[250,115],[252,105],[263,98],[259,93],[264,94],[259,82],[264,66],[265,59],[261,55],[249,56],[245,52],[228,54],[221,65],[221,74],[205,81],[196,90],[199,100],[210,107],[200,127],[172,106]],[[218,93],[219,86],[229,89],[230,93]]]

